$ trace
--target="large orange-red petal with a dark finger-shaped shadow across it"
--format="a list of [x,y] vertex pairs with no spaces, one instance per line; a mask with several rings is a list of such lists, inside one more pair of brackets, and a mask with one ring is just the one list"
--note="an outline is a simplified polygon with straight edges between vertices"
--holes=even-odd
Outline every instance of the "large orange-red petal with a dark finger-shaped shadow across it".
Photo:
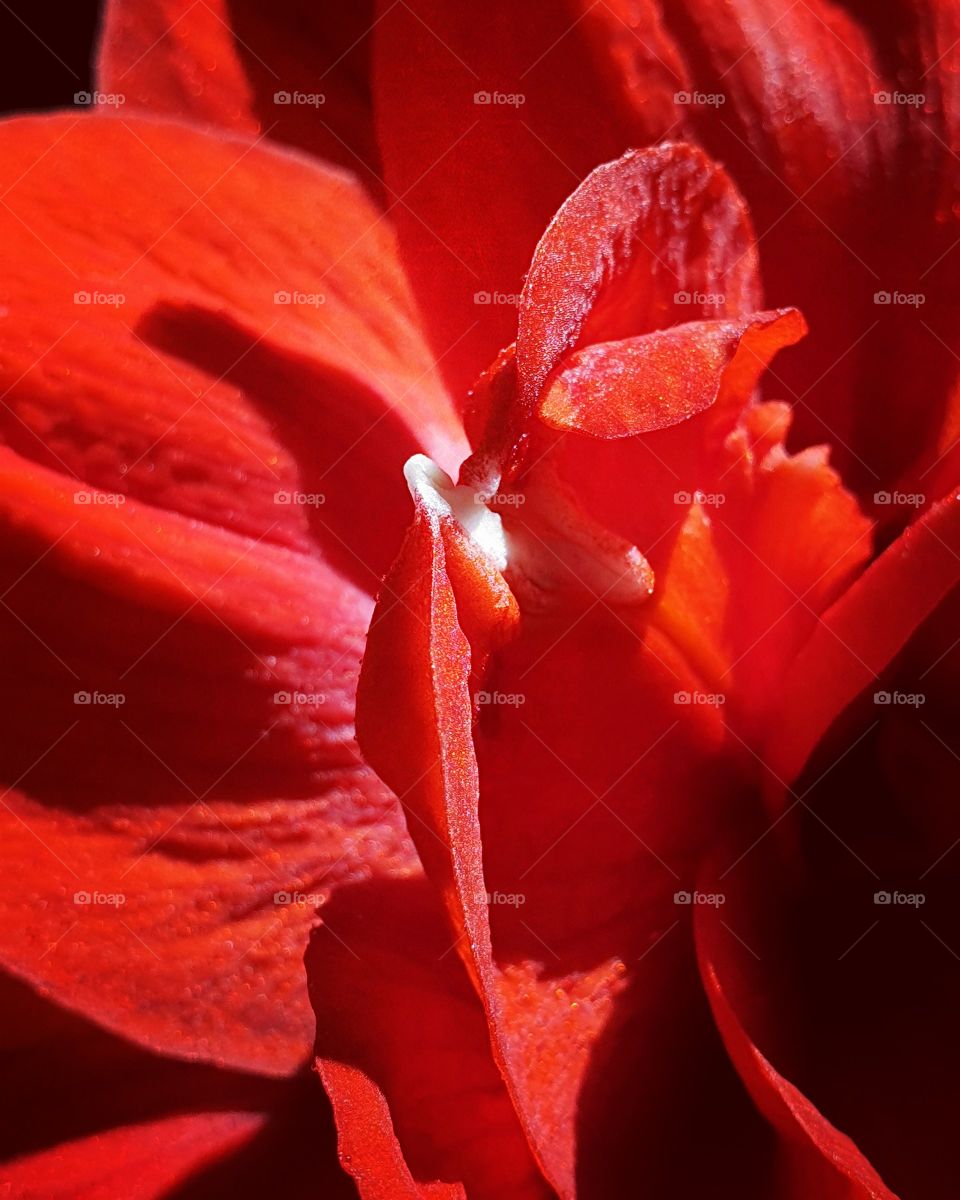
[[[104,491],[319,545],[372,590],[402,536],[400,466],[456,455],[460,433],[359,188],[126,118],[11,121],[0,148],[4,439]],[[298,494],[323,503],[277,502]]]

